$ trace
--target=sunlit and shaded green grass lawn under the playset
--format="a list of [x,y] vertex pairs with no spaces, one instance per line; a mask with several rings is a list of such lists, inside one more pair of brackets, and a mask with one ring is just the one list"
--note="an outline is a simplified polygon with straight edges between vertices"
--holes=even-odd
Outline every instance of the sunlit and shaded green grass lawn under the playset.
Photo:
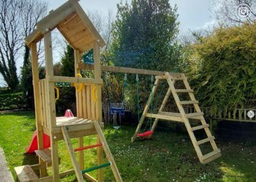
[[[34,112],[0,114],[0,147],[4,149],[10,170],[36,164],[36,155],[24,155],[35,127]],[[152,140],[130,143],[135,126],[104,129],[105,137],[124,181],[256,181],[256,144],[217,142],[222,157],[202,165],[188,134],[157,131]],[[218,140],[218,139],[217,139]],[[74,146],[77,140],[72,139]],[[85,145],[95,144],[96,137],[85,137]],[[66,147],[59,142],[60,170],[72,169]],[[85,165],[96,165],[96,150],[85,151]],[[48,171],[51,173],[50,170]],[[105,168],[105,181],[115,181]],[[96,177],[96,172],[90,173]],[[17,180],[17,178],[15,177]],[[75,176],[61,181],[76,181]]]

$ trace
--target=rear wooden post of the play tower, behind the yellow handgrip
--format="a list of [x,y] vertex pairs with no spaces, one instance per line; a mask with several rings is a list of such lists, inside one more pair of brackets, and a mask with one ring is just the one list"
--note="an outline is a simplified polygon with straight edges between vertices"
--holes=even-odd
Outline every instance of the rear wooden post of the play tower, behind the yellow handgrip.
[[[75,65],[77,65],[80,61],[80,51],[78,49],[74,50],[74,59],[75,59]],[[80,73],[80,69],[75,67],[75,75],[77,75],[77,73]],[[83,99],[82,98],[82,93],[84,92],[84,88],[78,92],[77,90],[75,91],[75,97],[76,97],[76,103],[77,103],[77,117],[83,118]],[[81,148],[83,147],[83,137],[79,137],[78,138],[78,147]],[[79,165],[80,165],[80,169],[84,170],[85,169],[85,159],[84,159],[84,153],[83,151],[79,151],[78,152],[79,155]]]

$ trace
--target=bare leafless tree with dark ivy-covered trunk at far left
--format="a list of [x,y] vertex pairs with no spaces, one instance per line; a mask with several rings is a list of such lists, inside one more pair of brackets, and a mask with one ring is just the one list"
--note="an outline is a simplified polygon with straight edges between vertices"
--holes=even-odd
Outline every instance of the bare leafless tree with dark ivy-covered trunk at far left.
[[47,3],[37,0],[0,0],[0,73],[12,90],[19,83],[16,61],[23,46],[23,67],[29,62],[23,38],[34,31],[46,11]]

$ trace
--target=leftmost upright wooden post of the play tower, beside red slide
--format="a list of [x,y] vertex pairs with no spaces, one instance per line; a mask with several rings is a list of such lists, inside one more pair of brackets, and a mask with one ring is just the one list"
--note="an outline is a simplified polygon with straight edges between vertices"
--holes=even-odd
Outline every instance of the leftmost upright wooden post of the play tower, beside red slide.
[[[36,113],[36,128],[37,128],[37,144],[38,149],[43,149],[43,127],[42,127],[42,112],[40,109],[40,95],[39,95],[39,69],[37,64],[37,45],[31,43],[31,64],[32,64],[32,76],[33,76],[33,89],[34,89],[34,103]],[[44,163],[39,157],[39,164]],[[40,168],[40,177],[47,175],[46,167]]]

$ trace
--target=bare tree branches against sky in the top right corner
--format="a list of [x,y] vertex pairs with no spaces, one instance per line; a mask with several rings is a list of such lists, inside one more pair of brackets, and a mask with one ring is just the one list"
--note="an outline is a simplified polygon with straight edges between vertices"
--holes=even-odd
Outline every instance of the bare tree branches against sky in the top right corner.
[[[255,0],[218,0],[213,2],[213,11],[217,20],[222,24],[243,24],[245,22],[253,23],[256,20],[256,1]],[[246,21],[236,17],[235,10],[239,4],[249,5],[251,11],[250,17]]]

